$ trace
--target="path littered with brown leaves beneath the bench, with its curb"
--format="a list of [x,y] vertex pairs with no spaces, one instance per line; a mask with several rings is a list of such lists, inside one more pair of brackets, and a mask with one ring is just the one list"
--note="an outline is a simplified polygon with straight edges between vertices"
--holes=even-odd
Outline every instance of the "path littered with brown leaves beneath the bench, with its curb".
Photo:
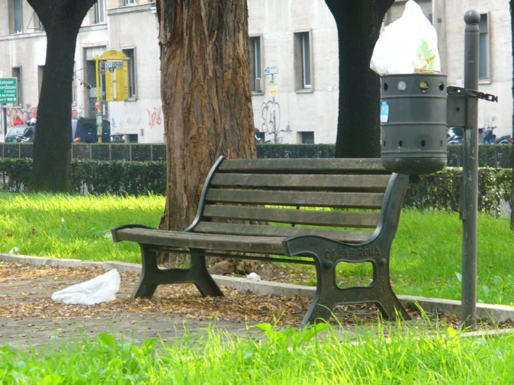
[[[68,269],[72,268],[72,269]],[[56,304],[50,297],[57,290],[78,284],[103,270],[116,268],[122,277],[117,300],[97,306]],[[3,272],[3,274],[2,274]],[[131,300],[140,265],[121,262],[89,262],[72,259],[0,254],[0,345],[42,345],[69,336],[95,336],[111,332],[125,341],[161,336],[170,340],[187,329],[195,332],[209,325],[231,334],[246,335],[246,325],[273,323],[298,325],[314,288],[245,278],[214,276],[225,297],[201,297],[191,286],[159,286],[152,300]],[[246,293],[241,293],[246,292]],[[252,294],[255,293],[255,294]],[[278,297],[280,296],[280,297]],[[408,311],[419,318],[417,302],[424,311],[458,325],[460,302],[399,296]],[[284,313],[282,313],[284,311]],[[359,322],[376,321],[376,308],[352,305],[337,317],[353,331]],[[246,316],[245,316],[246,315]],[[217,317],[213,320],[213,316]],[[357,320],[355,320],[357,318]],[[477,318],[511,325],[514,307],[477,304]],[[413,322],[422,322],[415,320]],[[256,333],[255,327],[250,332]]]

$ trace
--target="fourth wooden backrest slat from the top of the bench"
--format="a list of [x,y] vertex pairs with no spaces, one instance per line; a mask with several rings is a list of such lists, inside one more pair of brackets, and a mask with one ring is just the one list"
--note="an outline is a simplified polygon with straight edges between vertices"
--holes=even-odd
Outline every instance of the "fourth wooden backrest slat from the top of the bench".
[[206,218],[225,218],[232,220],[375,228],[378,224],[380,213],[294,210],[287,208],[207,204],[204,207],[203,216]]

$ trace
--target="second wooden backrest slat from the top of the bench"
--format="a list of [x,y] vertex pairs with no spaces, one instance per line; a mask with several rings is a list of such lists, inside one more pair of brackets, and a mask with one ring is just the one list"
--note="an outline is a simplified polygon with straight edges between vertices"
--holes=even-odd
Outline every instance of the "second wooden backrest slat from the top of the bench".
[[338,190],[384,192],[389,175],[305,175],[305,174],[223,174],[214,175],[211,186],[282,188],[285,190]]

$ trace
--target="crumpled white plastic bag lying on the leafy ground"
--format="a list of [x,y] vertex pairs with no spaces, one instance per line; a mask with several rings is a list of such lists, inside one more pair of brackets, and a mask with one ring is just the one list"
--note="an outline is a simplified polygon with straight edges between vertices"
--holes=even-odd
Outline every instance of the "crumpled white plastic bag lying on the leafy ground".
[[114,301],[120,290],[120,273],[113,269],[90,281],[56,291],[51,299],[61,304],[95,305]]

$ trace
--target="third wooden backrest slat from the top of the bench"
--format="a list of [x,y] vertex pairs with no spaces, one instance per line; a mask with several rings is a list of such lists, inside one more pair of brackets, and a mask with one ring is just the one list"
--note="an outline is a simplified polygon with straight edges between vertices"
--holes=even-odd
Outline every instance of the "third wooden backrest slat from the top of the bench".
[[282,206],[381,208],[383,193],[323,193],[209,188],[207,202]]

